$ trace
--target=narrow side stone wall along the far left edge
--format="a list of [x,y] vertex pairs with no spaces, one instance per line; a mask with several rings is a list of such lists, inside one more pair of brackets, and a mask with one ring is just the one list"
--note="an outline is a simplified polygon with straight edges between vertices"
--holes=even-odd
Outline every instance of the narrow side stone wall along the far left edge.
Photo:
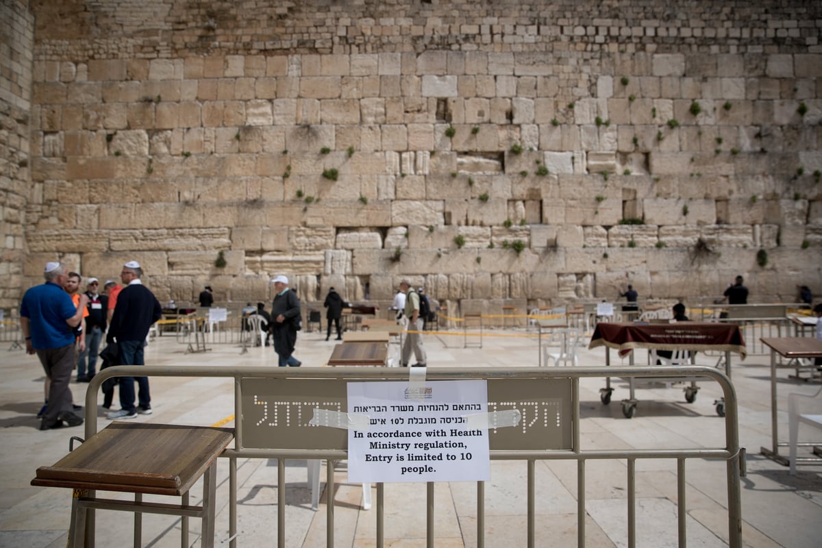
[[24,283],[34,23],[24,3],[0,3],[0,308],[16,306]]

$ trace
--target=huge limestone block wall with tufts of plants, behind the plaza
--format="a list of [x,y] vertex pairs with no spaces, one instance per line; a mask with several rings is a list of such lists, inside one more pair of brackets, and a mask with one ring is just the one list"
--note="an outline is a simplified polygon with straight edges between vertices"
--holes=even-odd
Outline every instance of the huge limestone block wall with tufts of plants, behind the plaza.
[[25,285],[62,256],[178,301],[822,292],[811,2],[31,9]]

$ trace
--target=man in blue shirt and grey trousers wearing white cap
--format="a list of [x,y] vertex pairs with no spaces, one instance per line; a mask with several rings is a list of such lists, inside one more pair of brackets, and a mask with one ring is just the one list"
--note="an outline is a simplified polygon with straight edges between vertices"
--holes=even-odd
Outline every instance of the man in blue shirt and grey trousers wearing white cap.
[[83,319],[89,297],[81,295],[80,306],[62,288],[68,272],[66,265],[48,262],[44,269],[46,282],[30,288],[20,305],[20,327],[25,337],[25,352],[37,353],[51,381],[48,403],[40,422],[40,430],[83,423],[72,408],[69,383],[74,371],[74,331]]

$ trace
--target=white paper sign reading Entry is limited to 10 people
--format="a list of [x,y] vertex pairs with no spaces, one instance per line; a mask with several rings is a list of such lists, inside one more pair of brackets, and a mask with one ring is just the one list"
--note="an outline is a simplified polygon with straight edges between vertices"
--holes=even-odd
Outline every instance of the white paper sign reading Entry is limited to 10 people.
[[349,414],[368,416],[349,429],[349,481],[488,481],[486,380],[348,384]]

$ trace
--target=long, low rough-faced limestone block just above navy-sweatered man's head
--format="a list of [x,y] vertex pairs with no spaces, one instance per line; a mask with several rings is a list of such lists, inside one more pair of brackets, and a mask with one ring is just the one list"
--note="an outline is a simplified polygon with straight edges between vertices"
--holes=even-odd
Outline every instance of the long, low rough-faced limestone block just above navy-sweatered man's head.
[[229,228],[157,228],[113,230],[111,251],[225,250],[232,245]]

